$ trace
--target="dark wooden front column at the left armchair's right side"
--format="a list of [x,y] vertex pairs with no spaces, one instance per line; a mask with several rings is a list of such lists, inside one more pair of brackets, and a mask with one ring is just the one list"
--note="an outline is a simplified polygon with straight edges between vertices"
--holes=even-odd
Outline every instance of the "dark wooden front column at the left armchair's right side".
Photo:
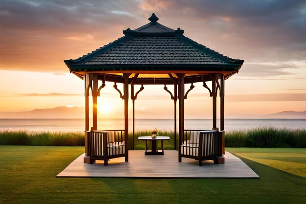
[[123,87],[123,95],[124,95],[124,139],[125,144],[127,145],[125,148],[125,161],[129,161],[129,76],[131,74],[124,73],[124,87]]

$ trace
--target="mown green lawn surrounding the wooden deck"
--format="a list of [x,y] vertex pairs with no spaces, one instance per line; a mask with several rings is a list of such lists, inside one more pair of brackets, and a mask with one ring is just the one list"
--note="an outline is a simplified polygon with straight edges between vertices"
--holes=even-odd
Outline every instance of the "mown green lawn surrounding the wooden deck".
[[227,151],[261,179],[55,178],[84,147],[0,146],[0,203],[306,203],[305,148]]

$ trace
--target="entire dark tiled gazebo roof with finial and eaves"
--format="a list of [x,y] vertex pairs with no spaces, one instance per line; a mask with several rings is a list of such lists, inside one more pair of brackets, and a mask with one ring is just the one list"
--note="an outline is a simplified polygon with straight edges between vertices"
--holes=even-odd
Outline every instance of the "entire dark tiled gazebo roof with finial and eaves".
[[185,37],[180,28],[174,30],[158,23],[154,13],[149,20],[137,29],[124,30],[124,37],[83,57],[65,60],[67,67],[72,72],[149,74],[237,72],[243,64],[243,60],[226,57]]

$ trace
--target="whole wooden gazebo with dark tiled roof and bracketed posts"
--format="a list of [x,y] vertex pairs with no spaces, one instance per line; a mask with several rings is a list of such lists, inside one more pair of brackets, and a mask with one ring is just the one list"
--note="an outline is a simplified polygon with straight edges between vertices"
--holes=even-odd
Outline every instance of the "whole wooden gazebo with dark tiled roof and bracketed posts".
[[[194,88],[194,83],[202,83],[212,97],[212,130],[222,131],[218,140],[220,152],[224,154],[224,87],[225,79],[238,73],[243,60],[232,59],[216,52],[204,45],[185,37],[184,30],[176,30],[158,23],[159,19],[153,13],[149,18],[150,23],[137,29],[127,28],[124,36],[108,45],[100,47],[78,59],[65,60],[70,72],[83,79],[85,82],[85,163],[92,163],[93,147],[95,142],[105,140],[101,137],[92,137],[90,132],[97,130],[97,97],[106,82],[114,83],[113,87],[124,100],[124,144],[126,148],[119,151],[125,160],[129,159],[127,148],[129,133],[129,95],[133,105],[133,132],[134,132],[134,101],[144,85],[164,85],[175,105],[175,149],[176,145],[176,100],[178,99],[178,145],[182,143],[184,134],[184,100]],[[211,82],[209,88],[206,83]],[[123,93],[118,89],[117,83],[123,84]],[[185,91],[185,84],[190,84],[190,89]],[[139,91],[134,91],[134,85],[141,85]],[[174,92],[167,86],[173,85]],[[131,86],[131,92],[129,91]],[[219,90],[219,94],[218,94]],[[92,95],[92,125],[89,124],[89,94]],[[217,98],[219,95],[220,126],[217,126]],[[117,135],[120,133],[116,133]],[[122,137],[122,131],[121,131]],[[134,137],[133,137],[134,140]],[[134,141],[132,141],[134,142]],[[99,145],[98,145],[99,146]],[[101,149],[102,155],[107,150]],[[103,151],[104,154],[103,154]],[[116,150],[117,151],[117,150]],[[98,154],[98,153],[96,153]],[[181,148],[178,148],[181,154]],[[224,162],[221,154],[219,163]],[[112,157],[108,158],[111,159]],[[105,159],[107,162],[107,159]],[[180,156],[179,156],[180,161]]]

